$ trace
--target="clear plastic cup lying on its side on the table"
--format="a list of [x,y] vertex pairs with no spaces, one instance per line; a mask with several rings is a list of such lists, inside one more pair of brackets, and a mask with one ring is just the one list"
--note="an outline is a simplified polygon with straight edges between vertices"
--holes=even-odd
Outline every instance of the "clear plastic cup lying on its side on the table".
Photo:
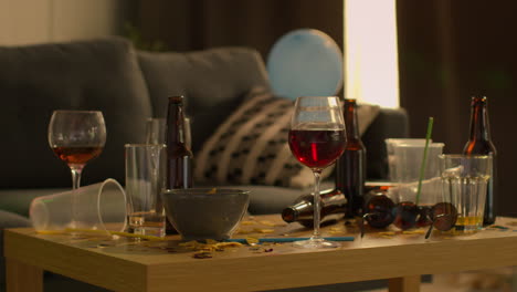
[[124,231],[126,194],[115,179],[108,178],[78,189],[35,198],[29,215],[36,231]]

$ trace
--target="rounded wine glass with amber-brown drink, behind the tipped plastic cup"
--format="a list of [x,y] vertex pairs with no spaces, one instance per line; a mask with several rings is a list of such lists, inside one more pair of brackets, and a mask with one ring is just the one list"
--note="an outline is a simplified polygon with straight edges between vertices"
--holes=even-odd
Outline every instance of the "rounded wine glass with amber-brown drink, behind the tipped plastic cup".
[[103,113],[97,111],[54,111],[49,124],[49,144],[72,171],[72,188],[81,185],[81,174],[106,143]]

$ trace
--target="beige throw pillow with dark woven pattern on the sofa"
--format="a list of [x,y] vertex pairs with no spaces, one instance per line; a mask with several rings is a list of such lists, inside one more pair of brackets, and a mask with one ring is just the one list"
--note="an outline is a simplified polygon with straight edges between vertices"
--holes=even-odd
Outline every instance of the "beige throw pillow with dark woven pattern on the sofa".
[[293,109],[291,100],[252,91],[194,154],[196,182],[309,186],[314,181],[310,169],[296,160],[287,144]]

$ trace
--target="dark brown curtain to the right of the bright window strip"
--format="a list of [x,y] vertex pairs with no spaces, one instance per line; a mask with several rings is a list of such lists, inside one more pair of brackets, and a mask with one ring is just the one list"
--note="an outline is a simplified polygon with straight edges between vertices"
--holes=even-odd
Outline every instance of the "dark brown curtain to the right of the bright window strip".
[[401,106],[412,137],[424,137],[434,116],[433,140],[461,153],[468,139],[469,101],[486,95],[492,138],[498,150],[498,213],[517,216],[511,187],[517,136],[517,2],[398,0]]

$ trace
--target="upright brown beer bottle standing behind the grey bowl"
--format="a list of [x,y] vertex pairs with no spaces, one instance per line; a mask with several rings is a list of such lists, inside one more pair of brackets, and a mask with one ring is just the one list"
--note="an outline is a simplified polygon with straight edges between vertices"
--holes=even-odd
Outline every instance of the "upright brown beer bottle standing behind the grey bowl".
[[[183,96],[169,97],[167,112],[167,165],[166,188],[191,188],[192,187],[192,152],[186,143],[183,114]],[[166,233],[175,233],[175,229],[167,221]]]

